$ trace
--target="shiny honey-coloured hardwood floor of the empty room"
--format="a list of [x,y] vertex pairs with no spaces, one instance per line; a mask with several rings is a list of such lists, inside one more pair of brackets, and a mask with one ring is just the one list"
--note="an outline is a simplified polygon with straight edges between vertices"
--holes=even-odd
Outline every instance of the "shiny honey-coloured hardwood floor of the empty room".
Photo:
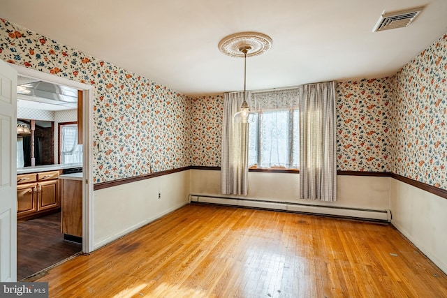
[[196,204],[38,281],[50,297],[447,297],[390,225]]

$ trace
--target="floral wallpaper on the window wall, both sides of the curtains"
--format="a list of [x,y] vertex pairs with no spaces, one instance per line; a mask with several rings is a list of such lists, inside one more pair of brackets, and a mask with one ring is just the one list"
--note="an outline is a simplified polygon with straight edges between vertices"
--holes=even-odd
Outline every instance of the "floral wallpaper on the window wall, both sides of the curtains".
[[[338,170],[389,172],[392,82],[387,77],[337,84]],[[220,166],[223,95],[191,100],[191,165]]]

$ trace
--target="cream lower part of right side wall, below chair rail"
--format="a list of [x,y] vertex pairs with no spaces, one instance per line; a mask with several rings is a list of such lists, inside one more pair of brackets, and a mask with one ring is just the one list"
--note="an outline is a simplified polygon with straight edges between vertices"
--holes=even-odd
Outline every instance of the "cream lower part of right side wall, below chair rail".
[[391,223],[447,272],[447,200],[391,179]]

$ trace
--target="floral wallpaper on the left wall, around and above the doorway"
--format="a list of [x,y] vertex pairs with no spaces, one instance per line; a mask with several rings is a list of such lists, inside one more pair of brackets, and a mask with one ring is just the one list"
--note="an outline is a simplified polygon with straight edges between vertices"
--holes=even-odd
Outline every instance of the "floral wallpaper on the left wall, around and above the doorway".
[[94,85],[95,183],[190,165],[186,96],[3,19],[0,59]]

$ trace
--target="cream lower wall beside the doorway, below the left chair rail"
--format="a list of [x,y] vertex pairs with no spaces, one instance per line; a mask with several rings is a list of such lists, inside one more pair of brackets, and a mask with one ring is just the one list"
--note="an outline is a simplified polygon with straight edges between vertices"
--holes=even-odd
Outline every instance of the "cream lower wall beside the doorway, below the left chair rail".
[[94,249],[188,204],[189,172],[94,191]]

